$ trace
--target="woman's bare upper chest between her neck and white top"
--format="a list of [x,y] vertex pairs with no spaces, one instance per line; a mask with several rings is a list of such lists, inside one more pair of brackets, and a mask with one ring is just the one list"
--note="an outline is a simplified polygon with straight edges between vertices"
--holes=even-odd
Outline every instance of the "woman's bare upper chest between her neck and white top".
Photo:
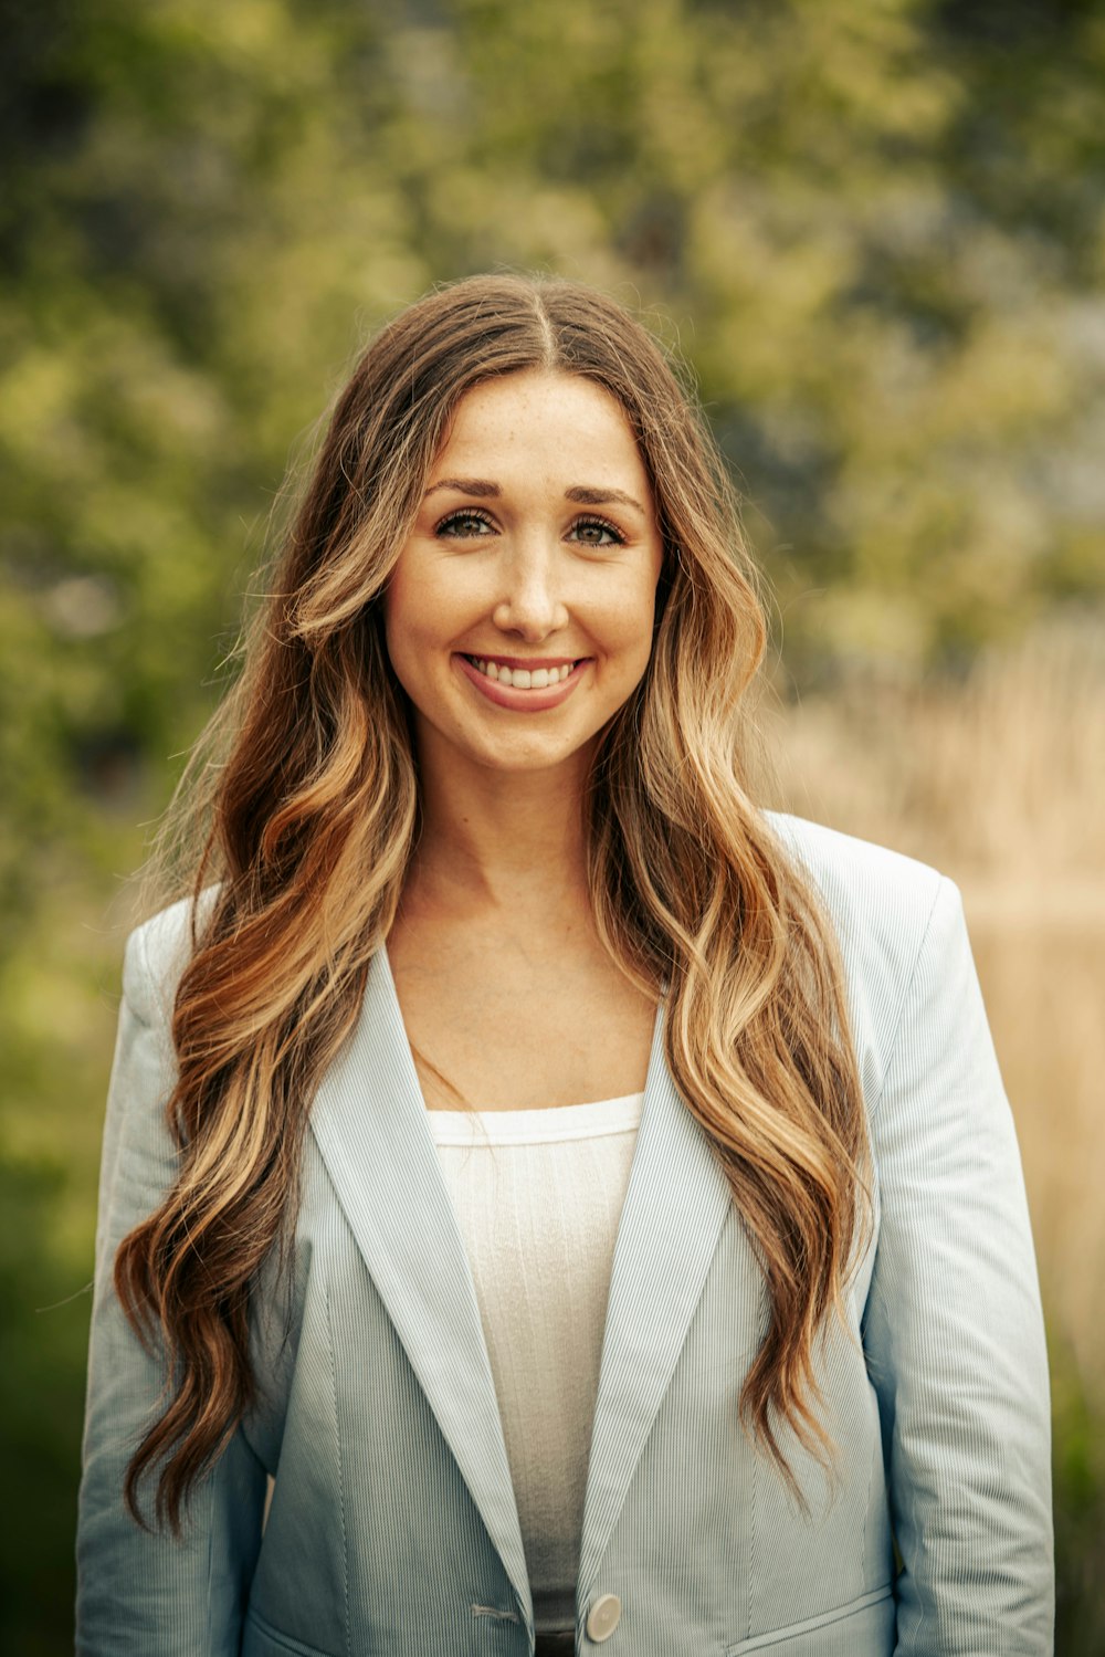
[[429,1109],[525,1110],[644,1087],[656,998],[596,940],[396,928],[388,958]]

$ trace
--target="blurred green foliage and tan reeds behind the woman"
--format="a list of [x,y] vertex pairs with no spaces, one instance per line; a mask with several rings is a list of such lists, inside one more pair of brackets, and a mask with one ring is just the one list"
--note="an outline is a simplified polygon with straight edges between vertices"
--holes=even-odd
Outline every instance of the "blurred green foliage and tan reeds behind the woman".
[[1105,13],[3,0],[0,1647],[71,1650],[94,1183],[149,828],[364,335],[538,267],[694,368],[779,800],[963,885],[1105,1650]]

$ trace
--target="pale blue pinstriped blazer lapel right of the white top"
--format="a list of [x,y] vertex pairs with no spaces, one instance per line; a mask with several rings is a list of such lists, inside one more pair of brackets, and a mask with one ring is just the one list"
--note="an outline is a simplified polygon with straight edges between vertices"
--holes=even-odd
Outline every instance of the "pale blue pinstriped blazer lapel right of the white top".
[[590,1599],[732,1210],[709,1140],[671,1080],[663,1009],[661,1001],[610,1279],[583,1508],[580,1606]]

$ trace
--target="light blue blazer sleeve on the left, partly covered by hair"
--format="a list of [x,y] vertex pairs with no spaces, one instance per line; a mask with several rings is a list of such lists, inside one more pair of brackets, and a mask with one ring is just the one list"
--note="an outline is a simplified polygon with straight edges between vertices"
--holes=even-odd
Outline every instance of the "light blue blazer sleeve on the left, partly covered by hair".
[[123,1236],[159,1205],[176,1173],[164,1117],[172,1079],[169,1021],[139,931],[126,951],[103,1140],[76,1536],[78,1657],[237,1657],[260,1544],[265,1470],[240,1430],[195,1486],[182,1539],[142,1529],[123,1505],[128,1461],[164,1407],[166,1369],[126,1321],[113,1264]]

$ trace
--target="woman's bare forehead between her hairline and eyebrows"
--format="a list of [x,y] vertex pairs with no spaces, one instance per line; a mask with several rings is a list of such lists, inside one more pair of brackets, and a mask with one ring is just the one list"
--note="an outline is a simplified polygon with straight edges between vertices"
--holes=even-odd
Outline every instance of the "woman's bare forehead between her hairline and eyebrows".
[[484,466],[540,459],[557,472],[590,461],[591,469],[603,464],[633,474],[638,487],[646,476],[636,436],[613,393],[583,374],[542,370],[484,379],[461,398],[434,472],[466,457],[482,457]]

